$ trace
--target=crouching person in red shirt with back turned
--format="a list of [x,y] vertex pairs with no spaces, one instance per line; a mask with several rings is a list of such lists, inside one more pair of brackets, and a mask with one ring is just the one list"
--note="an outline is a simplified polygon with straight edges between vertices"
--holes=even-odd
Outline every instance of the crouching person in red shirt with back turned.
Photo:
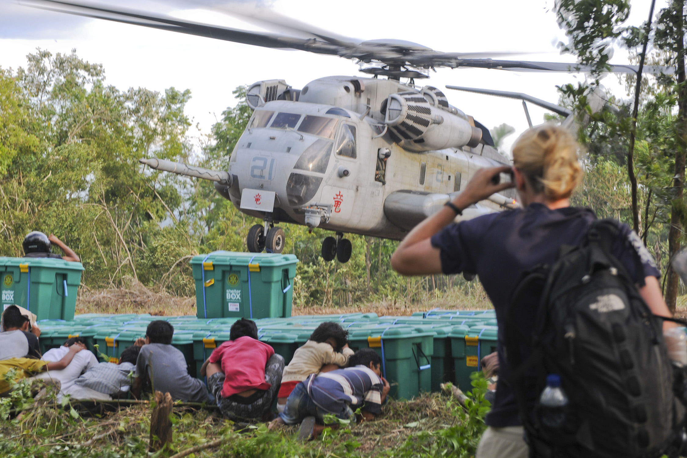
[[217,347],[201,367],[222,414],[234,422],[271,420],[282,371],[284,358],[258,341],[256,323],[245,318],[232,325],[229,341]]

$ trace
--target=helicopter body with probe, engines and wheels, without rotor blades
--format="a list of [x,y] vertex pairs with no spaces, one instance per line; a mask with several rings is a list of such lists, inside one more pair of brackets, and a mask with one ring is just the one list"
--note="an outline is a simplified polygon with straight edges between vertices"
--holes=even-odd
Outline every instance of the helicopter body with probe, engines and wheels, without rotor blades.
[[[274,224],[289,222],[335,231],[323,256],[346,262],[343,233],[400,240],[471,174],[508,163],[488,130],[433,87],[331,76],[299,91],[264,80],[249,86],[246,100],[254,113],[226,172],[142,163],[212,180],[240,211],[264,220],[249,231],[249,251],[280,252],[284,233]],[[464,218],[515,205],[504,194],[466,209]]]

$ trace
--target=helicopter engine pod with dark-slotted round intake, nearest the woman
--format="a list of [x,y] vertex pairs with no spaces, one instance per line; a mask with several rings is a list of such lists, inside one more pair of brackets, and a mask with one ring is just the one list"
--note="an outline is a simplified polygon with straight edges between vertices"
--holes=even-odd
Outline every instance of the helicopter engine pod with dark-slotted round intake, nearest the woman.
[[405,150],[475,147],[482,140],[480,128],[450,109],[440,108],[436,95],[431,98],[414,91],[391,94],[384,108],[389,135]]

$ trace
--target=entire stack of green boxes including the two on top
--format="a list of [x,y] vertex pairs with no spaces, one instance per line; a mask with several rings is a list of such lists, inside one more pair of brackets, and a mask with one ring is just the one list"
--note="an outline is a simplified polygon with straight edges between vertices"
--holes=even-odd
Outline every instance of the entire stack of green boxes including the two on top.
[[480,358],[496,350],[494,310],[429,310],[409,317],[374,313],[291,317],[294,255],[217,251],[192,259],[196,280],[196,316],[82,314],[74,316],[83,267],[49,258],[0,257],[0,288],[5,307],[18,304],[34,312],[41,326],[41,350],[82,336],[100,358],[117,360],[124,348],[146,334],[150,321],[174,326],[172,345],[183,353],[189,374],[229,340],[232,323],[254,319],[258,338],[284,356],[286,363],[317,325],[335,321],[350,333],[353,350],[372,348],[382,357],[383,375],[394,398],[437,391],[443,382],[471,389],[470,374]]

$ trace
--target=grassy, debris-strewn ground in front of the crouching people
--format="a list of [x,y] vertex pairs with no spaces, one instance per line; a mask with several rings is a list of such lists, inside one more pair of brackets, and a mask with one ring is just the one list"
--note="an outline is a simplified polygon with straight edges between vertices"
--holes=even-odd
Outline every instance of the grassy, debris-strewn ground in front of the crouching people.
[[[486,382],[484,382],[486,387]],[[20,382],[18,389],[27,389]],[[480,391],[476,389],[475,391]],[[49,396],[43,405],[32,404],[28,398],[19,417],[0,421],[0,455],[12,457],[148,457],[150,435],[150,404],[139,404],[87,417],[78,413],[79,404],[71,406],[68,398],[60,405]],[[23,402],[26,402],[25,400]],[[483,404],[483,403],[482,403]],[[72,408],[74,407],[74,408]],[[475,403],[476,413],[479,403]],[[484,409],[484,405],[481,407]],[[457,409],[460,412],[457,414]],[[172,413],[173,442],[153,457],[169,457],[192,446],[225,439],[215,446],[189,455],[191,457],[409,457],[433,456],[416,453],[414,447],[446,441],[447,431],[457,431],[459,425],[477,424],[481,433],[483,422],[479,415],[469,417],[453,398],[439,393],[423,394],[410,401],[390,401],[383,407],[379,420],[363,422],[338,430],[326,429],[319,439],[302,444],[293,439],[296,426],[267,431],[265,424],[237,427],[218,413],[174,407]],[[473,436],[475,436],[473,434]],[[476,438],[458,453],[472,451]],[[453,438],[455,439],[455,438]],[[451,443],[453,443],[451,439]],[[460,439],[460,437],[458,438]],[[460,440],[455,443],[460,443]],[[454,450],[455,451],[455,450]]]

